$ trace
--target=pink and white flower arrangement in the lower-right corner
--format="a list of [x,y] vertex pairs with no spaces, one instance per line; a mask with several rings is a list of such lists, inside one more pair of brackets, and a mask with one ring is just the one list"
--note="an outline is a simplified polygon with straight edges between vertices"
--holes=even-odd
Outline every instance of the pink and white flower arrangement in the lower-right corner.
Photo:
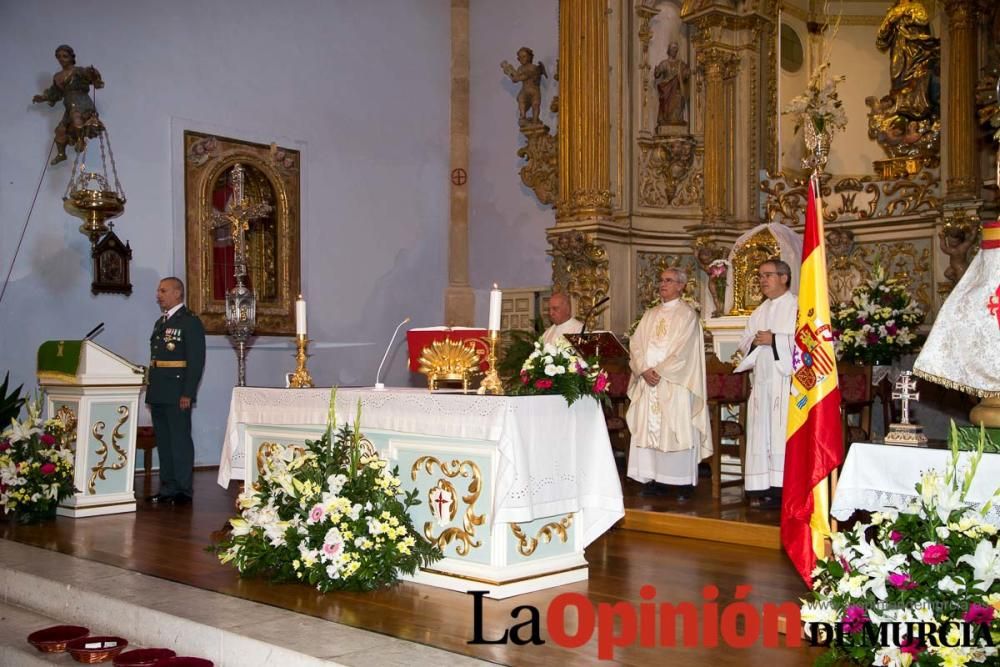
[[[965,500],[983,448],[963,461],[956,439],[952,423],[947,469],[925,472],[906,507],[832,535],[801,614],[807,634],[819,627],[839,635],[817,665],[997,664],[1000,549],[985,516],[1000,488],[980,509]],[[886,641],[876,641],[883,628]]]

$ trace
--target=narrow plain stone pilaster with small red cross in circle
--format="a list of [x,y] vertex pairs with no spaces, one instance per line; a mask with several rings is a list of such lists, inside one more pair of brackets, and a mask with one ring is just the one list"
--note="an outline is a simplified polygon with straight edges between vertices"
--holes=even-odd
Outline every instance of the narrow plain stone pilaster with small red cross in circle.
[[471,326],[469,285],[469,0],[451,0],[451,212],[448,224],[448,326]]

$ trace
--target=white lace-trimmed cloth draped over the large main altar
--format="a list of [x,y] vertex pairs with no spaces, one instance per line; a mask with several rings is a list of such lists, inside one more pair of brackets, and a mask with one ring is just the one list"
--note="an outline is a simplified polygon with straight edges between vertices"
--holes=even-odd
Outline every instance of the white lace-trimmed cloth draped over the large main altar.
[[[489,440],[500,453],[493,511],[500,523],[583,512],[590,544],[625,515],[604,414],[584,398],[432,394],[426,389],[339,389],[337,422],[353,421],[361,401],[362,430]],[[236,387],[229,406],[219,484],[242,461],[241,424],[325,424],[329,389]]]

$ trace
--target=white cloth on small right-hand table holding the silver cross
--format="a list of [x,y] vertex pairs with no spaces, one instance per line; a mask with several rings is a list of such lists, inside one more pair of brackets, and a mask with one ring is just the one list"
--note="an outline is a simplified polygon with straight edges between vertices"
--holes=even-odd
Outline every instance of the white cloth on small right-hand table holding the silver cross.
[[[960,479],[969,469],[971,457],[971,452],[961,453],[958,464]],[[921,473],[936,469],[944,474],[950,459],[951,451],[945,449],[856,442],[851,445],[837,480],[830,514],[846,521],[855,510],[880,512],[890,507],[905,508],[918,497],[913,486],[920,481]],[[998,484],[1000,454],[983,454],[965,500],[971,507],[982,509]],[[1000,527],[1000,507],[990,507],[985,520]]]

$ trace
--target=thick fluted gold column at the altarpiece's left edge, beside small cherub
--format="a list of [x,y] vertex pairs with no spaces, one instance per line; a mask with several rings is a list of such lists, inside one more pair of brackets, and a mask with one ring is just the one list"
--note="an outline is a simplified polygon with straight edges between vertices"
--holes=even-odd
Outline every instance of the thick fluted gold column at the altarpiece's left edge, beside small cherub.
[[611,218],[605,0],[559,3],[559,200],[556,225]]

